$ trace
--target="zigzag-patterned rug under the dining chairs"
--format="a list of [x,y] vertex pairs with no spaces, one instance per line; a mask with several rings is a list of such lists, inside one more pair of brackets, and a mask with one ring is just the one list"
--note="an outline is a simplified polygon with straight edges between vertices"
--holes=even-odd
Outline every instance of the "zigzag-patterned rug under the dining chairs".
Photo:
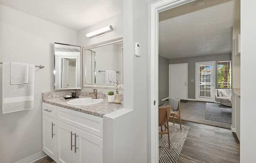
[[[185,125],[182,125],[182,130],[180,130],[179,124],[173,125],[173,123],[169,123],[169,127],[171,149],[168,146],[167,134],[163,135],[163,138],[159,136],[159,163],[177,163],[190,130],[190,127]],[[165,127],[163,127],[164,129]]]

